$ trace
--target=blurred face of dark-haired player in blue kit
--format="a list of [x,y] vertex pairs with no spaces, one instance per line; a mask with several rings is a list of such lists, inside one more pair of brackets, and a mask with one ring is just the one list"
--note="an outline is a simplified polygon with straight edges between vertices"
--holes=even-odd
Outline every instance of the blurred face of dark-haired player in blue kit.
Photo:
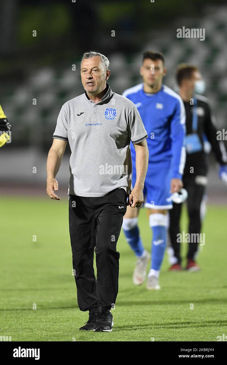
[[145,58],[140,68],[140,74],[144,79],[144,83],[152,88],[158,87],[162,83],[166,72],[167,69],[164,67],[161,59],[154,61],[150,58]]

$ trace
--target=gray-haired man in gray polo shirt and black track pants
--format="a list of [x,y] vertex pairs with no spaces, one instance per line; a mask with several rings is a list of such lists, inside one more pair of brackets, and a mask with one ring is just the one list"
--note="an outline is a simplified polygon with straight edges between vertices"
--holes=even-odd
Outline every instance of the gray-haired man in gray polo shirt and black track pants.
[[[58,116],[47,159],[47,194],[60,200],[55,179],[69,141],[69,230],[78,306],[89,310],[81,330],[112,331],[118,293],[117,240],[126,205],[139,207],[148,166],[147,134],[135,105],[111,91],[108,59],[83,55],[85,93],[67,101]],[[132,184],[130,141],[136,150],[136,184]],[[128,203],[127,203],[127,197]],[[97,278],[94,275],[94,249]]]

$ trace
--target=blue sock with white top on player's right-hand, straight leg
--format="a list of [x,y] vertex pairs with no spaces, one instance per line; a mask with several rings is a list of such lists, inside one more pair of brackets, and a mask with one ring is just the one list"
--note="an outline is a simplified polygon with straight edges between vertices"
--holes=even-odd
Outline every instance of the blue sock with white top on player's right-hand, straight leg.
[[160,270],[167,244],[167,216],[160,213],[150,215],[153,231],[151,269]]

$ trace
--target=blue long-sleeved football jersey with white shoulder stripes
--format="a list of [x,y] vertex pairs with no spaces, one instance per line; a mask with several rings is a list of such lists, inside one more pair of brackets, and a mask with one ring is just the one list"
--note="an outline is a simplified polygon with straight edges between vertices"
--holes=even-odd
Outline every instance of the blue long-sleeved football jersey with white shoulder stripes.
[[[137,107],[144,127],[149,150],[148,173],[172,161],[172,178],[182,178],[185,165],[185,109],[181,97],[162,85],[160,91],[146,94],[143,83],[127,89],[123,94]],[[131,143],[132,160],[136,153]],[[133,164],[134,164],[133,161]]]

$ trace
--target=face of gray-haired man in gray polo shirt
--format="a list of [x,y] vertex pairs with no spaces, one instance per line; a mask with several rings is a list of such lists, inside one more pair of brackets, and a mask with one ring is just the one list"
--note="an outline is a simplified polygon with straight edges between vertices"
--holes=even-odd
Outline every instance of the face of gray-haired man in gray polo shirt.
[[87,92],[94,94],[102,92],[108,77],[106,70],[103,69],[100,57],[95,56],[83,59],[81,64],[81,81],[83,88]]

